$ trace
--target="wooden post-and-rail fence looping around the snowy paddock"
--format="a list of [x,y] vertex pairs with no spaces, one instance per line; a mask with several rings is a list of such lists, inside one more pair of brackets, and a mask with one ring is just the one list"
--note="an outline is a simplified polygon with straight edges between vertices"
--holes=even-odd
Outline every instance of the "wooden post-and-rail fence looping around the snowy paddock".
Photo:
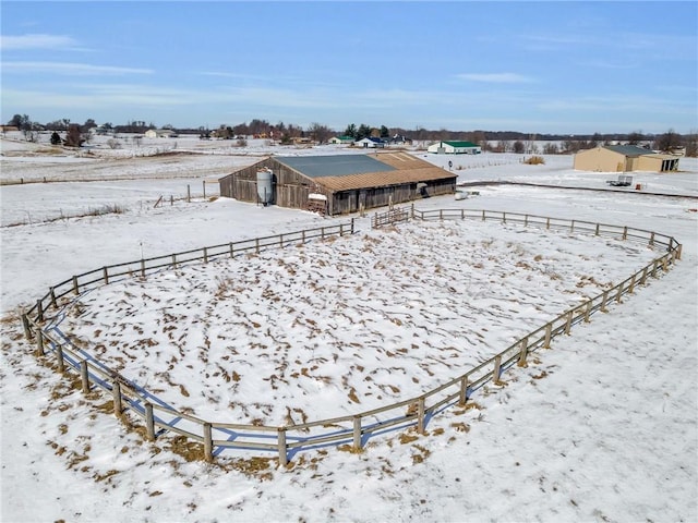
[[49,292],[39,299],[31,311],[22,315],[25,336],[27,339],[36,341],[37,355],[46,355],[47,350],[55,354],[59,372],[77,372],[81,377],[82,390],[85,393],[95,387],[109,392],[113,398],[113,411],[117,416],[122,415],[123,412],[130,412],[140,417],[145,425],[148,439],[154,440],[165,431],[185,436],[203,445],[203,455],[207,461],[214,459],[216,449],[272,451],[278,453],[279,465],[285,466],[288,463],[289,454],[303,448],[348,443],[353,449],[360,450],[372,435],[399,427],[417,427],[417,430],[423,434],[430,417],[449,405],[465,405],[472,393],[485,384],[497,384],[503,373],[509,367],[526,365],[527,357],[531,352],[550,348],[551,341],[555,337],[569,335],[575,325],[590,321],[590,317],[597,312],[606,312],[613,303],[619,303],[624,295],[631,294],[637,285],[646,285],[650,278],[657,278],[681,258],[682,245],[674,238],[628,227],[489,210],[433,209],[422,211],[413,207],[409,210],[405,208],[397,210],[399,212],[394,209],[384,214],[383,218],[372,220],[372,226],[378,224],[377,227],[380,227],[381,223],[392,223],[392,221],[385,221],[390,217],[404,220],[407,219],[406,215],[408,218],[423,221],[496,220],[501,223],[519,223],[539,229],[566,230],[574,233],[617,238],[646,243],[652,247],[664,247],[665,252],[613,289],[607,289],[585,303],[563,312],[502,352],[432,390],[370,411],[302,424],[257,426],[210,422],[184,414],[158,400],[128,378],[109,369],[88,352],[75,348],[68,338],[59,337],[56,330],[43,326],[45,312],[49,307],[58,308],[60,297],[71,292],[84,291],[95,283],[106,284],[113,281],[115,278],[127,275],[144,276],[154,270],[165,267],[174,268],[185,263],[200,260],[207,263],[215,257],[234,256],[245,252],[258,253],[265,248],[304,243],[315,238],[323,239],[329,235],[353,233],[353,220],[351,223],[221,244],[142,259],[131,264],[112,265],[74,276],[50,288]]

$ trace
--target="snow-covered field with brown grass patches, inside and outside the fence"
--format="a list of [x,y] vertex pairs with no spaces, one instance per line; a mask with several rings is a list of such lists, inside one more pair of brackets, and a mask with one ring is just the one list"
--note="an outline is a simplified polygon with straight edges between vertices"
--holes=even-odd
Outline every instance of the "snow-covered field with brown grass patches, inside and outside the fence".
[[33,355],[19,313],[106,265],[353,219],[353,235],[98,287],[52,319],[188,413],[278,425],[434,388],[661,253],[490,221],[372,229],[373,210],[322,218],[218,197],[217,178],[264,155],[365,153],[346,147],[0,144],[2,521],[698,519],[696,159],[610,191],[615,173],[575,171],[570,156],[529,166],[408,149],[446,169],[453,160],[474,184],[466,199],[416,209],[628,226],[673,235],[682,259],[480,389],[472,409],[431,418],[425,435],[386,430],[359,453],[318,446],[278,467],[270,452],[224,450],[207,464],[173,435],[145,441],[109,398],[85,398],[50,356]]

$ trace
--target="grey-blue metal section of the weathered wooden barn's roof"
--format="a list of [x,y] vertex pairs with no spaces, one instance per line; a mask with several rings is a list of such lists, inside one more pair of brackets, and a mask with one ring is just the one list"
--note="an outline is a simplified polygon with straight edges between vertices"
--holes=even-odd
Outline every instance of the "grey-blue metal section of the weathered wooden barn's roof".
[[395,167],[369,155],[276,156],[274,158],[308,178],[347,177],[396,170]]

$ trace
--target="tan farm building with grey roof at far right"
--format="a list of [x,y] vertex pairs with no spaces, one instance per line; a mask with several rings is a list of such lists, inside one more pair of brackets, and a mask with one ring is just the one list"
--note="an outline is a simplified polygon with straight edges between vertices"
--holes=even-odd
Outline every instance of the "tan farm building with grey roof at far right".
[[669,172],[678,170],[678,158],[659,155],[636,145],[603,145],[577,153],[575,169],[599,172]]

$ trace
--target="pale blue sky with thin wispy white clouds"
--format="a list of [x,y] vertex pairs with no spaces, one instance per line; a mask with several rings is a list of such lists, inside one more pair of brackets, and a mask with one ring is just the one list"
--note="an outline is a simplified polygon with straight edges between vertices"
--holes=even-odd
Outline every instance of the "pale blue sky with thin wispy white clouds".
[[698,3],[0,4],[2,122],[698,130]]

